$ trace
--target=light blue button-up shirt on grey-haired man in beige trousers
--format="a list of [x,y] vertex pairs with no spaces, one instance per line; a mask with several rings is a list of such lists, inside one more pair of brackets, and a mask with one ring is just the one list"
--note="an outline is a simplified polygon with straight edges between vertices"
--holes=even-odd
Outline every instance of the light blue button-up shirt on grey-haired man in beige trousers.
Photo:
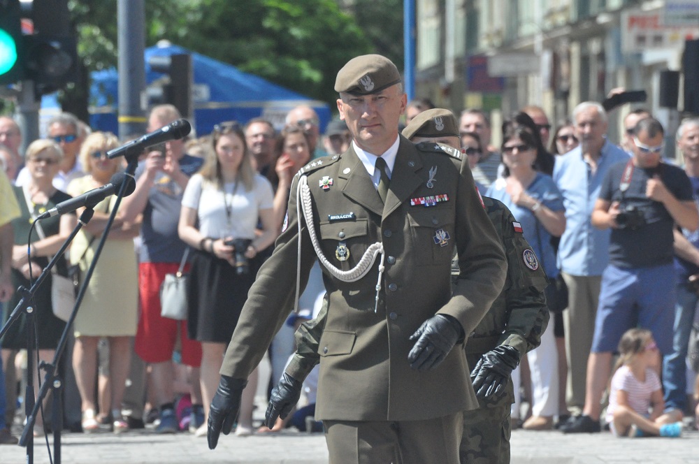
[[590,216],[611,166],[628,161],[628,153],[607,140],[597,171],[582,157],[582,147],[556,157],[554,182],[563,195],[565,232],[559,245],[559,269],[570,275],[602,275],[609,261],[610,231],[592,226]]

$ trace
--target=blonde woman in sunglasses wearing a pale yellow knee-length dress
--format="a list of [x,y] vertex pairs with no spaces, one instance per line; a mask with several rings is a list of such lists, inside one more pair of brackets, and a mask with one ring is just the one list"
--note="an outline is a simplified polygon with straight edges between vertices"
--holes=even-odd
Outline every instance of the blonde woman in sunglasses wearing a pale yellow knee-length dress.
[[[73,196],[103,187],[121,170],[120,159],[107,158],[107,152],[118,146],[119,141],[112,133],[95,132],[87,136],[80,148],[80,162],[87,175],[69,184],[68,190]],[[75,237],[71,263],[80,267],[81,276],[85,276],[94,259],[94,252],[116,200],[117,196],[112,195],[95,205],[92,219]],[[129,197],[126,197],[122,205],[128,202]],[[80,208],[78,213],[81,214],[83,210],[85,208]],[[107,339],[109,356],[108,366],[99,366],[100,389],[106,389],[109,399],[108,404],[101,405],[99,416],[102,422],[111,416],[114,433],[129,430],[121,407],[131,362],[131,338],[136,335],[138,322],[138,268],[133,239],[139,230],[140,217],[136,224],[129,224],[117,214],[87,285],[85,299],[75,317],[73,370],[82,400],[84,433],[99,429],[94,398],[97,346],[101,338]]]

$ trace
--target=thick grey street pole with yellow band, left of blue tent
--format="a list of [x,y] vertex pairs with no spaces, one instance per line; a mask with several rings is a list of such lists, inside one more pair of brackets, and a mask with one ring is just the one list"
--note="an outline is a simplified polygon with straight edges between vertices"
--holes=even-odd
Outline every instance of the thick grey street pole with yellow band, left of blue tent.
[[117,3],[119,35],[119,136],[145,132],[145,108],[141,94],[145,91],[145,8],[143,0],[119,0]]

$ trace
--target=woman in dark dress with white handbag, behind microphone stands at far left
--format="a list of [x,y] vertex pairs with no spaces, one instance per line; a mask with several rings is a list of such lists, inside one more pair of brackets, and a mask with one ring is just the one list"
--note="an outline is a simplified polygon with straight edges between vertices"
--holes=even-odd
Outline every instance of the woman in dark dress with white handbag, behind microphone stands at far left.
[[[29,238],[31,256],[27,256],[27,238],[34,218],[71,197],[56,189],[52,184],[53,177],[58,172],[59,164],[63,159],[63,150],[57,143],[48,139],[34,140],[27,147],[25,157],[29,179],[23,187],[13,187],[21,210],[20,217],[12,222],[15,230],[15,245],[12,254],[12,281],[15,289],[20,285],[27,289],[31,287],[31,283],[48,265],[49,260],[63,245],[76,224],[74,213],[43,219],[34,226],[34,230],[31,232],[31,238]],[[39,228],[41,230],[38,230]],[[61,275],[67,274],[67,265],[63,256],[57,263],[57,270]],[[15,292],[13,298],[4,305],[3,323],[7,321],[10,312],[15,309],[21,298],[22,294]],[[64,321],[53,314],[50,277],[34,293],[32,306],[34,307],[39,359],[50,362],[66,325]],[[12,351],[27,349],[27,319],[24,313],[20,315],[20,318],[10,327],[2,339],[2,348],[3,365],[10,365],[7,361]],[[29,349],[34,349],[34,347],[29,347]],[[36,354],[31,356],[36,356]],[[38,393],[37,381],[36,372],[34,372],[34,393]],[[4,420],[4,418],[0,418],[0,420]],[[43,435],[41,412],[36,419],[34,435]]]

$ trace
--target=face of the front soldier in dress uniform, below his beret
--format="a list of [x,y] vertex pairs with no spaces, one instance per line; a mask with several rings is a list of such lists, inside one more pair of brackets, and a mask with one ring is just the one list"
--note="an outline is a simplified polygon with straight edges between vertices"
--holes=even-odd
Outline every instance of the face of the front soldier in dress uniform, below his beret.
[[354,141],[362,150],[382,154],[398,137],[400,119],[408,97],[398,85],[371,95],[340,94],[340,119],[345,119]]

